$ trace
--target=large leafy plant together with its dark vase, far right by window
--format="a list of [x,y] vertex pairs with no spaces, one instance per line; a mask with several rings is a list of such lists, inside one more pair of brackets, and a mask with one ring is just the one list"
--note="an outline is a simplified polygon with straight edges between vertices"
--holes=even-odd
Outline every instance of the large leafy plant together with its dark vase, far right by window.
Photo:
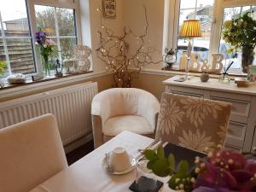
[[249,65],[253,64],[254,48],[256,46],[256,20],[253,14],[247,12],[232,20],[226,20],[223,26],[223,39],[230,44],[230,53],[241,49],[242,72],[247,73]]

